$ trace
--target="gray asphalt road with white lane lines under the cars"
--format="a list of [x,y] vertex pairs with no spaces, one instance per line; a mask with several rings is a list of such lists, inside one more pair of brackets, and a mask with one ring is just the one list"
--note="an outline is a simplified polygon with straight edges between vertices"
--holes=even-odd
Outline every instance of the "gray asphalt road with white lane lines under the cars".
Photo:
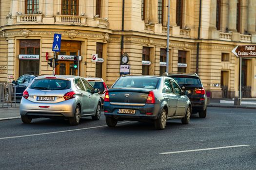
[[[208,107],[165,130],[122,121],[0,121],[1,170],[256,170],[256,110]],[[173,153],[174,152],[174,153]],[[162,154],[166,153],[166,154]]]

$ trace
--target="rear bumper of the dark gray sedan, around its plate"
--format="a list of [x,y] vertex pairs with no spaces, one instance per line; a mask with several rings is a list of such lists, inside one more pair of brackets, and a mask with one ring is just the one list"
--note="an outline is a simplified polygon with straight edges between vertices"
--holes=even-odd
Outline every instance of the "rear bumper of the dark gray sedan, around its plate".
[[[133,109],[135,114],[118,113],[118,109]],[[160,104],[145,104],[144,106],[113,105],[110,102],[104,102],[104,115],[119,120],[140,120],[140,119],[158,119]],[[152,115],[147,115],[152,113]]]

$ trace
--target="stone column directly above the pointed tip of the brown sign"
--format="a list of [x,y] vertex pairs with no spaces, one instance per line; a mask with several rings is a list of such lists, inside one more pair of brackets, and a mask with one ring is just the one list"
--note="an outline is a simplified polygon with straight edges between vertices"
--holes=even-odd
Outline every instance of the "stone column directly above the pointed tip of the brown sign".
[[228,17],[228,30],[237,32],[236,31],[236,6],[237,0],[229,0],[229,17]]

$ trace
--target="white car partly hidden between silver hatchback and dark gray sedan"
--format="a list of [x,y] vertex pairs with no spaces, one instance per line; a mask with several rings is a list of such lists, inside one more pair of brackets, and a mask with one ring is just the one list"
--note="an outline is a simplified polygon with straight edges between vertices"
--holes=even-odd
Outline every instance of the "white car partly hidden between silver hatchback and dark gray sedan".
[[106,91],[108,90],[108,87],[105,84],[104,80],[102,78],[97,78],[97,77],[96,78],[90,77],[85,79],[90,83],[90,85],[93,86],[93,88],[98,88],[99,90],[98,94],[101,99],[101,104],[103,104]]

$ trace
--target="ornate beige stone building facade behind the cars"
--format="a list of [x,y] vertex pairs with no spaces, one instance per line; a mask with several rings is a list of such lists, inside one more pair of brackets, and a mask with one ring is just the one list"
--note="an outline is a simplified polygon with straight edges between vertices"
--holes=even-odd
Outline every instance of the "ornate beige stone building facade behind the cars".
[[[130,74],[161,75],[166,65],[167,3],[1,0],[0,82],[22,74],[51,74],[47,58],[54,55],[55,33],[62,34],[57,74],[76,75],[70,57],[79,54],[79,75],[102,77],[110,86],[120,77],[125,52]],[[256,0],[170,3],[169,72],[198,72],[211,98],[238,96],[239,59],[231,51],[236,45],[256,43]],[[102,59],[93,62],[93,54]],[[256,97],[255,66],[254,58],[242,61],[244,97]]]

